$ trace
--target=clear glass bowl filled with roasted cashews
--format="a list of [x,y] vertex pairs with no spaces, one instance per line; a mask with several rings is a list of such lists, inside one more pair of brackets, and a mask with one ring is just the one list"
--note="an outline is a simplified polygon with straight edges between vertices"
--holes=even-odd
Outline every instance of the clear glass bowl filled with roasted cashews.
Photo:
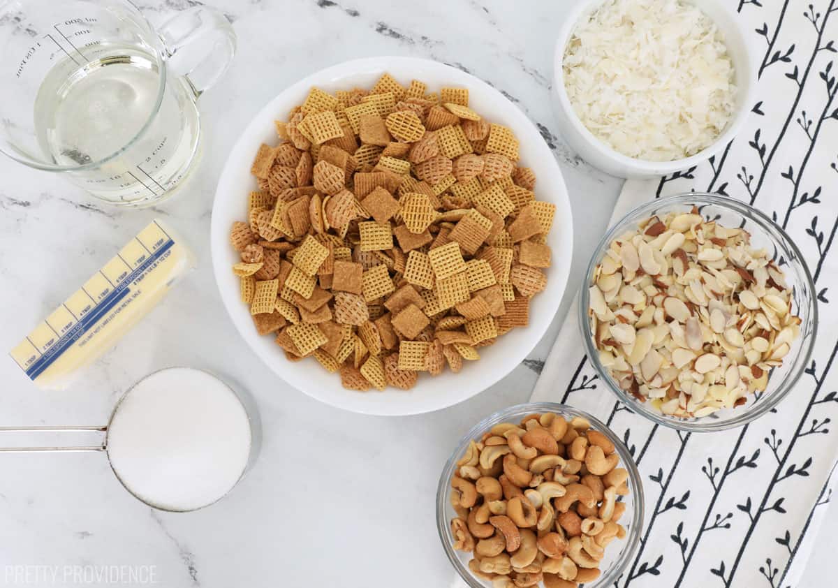
[[472,588],[597,588],[634,557],[643,505],[637,467],[607,426],[530,403],[463,436],[439,479],[437,529]]

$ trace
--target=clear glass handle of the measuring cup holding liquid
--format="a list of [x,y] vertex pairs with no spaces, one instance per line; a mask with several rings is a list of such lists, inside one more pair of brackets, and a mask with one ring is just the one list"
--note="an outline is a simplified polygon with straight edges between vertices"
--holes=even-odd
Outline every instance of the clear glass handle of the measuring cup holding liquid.
[[235,54],[233,28],[214,8],[187,8],[158,30],[169,67],[189,80],[196,95],[215,85]]

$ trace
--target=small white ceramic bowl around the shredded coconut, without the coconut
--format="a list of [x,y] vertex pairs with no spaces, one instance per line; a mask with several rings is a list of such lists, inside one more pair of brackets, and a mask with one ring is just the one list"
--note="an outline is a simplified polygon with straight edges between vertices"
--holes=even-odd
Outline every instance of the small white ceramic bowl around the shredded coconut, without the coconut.
[[567,18],[559,28],[556,40],[556,54],[553,59],[553,88],[551,102],[556,120],[559,124],[561,136],[582,158],[595,168],[619,178],[652,178],[654,176],[669,175],[680,170],[691,168],[697,163],[720,152],[737,132],[742,128],[754,103],[754,90],[757,85],[757,67],[753,54],[747,44],[742,27],[731,8],[723,0],[688,0],[706,13],[724,34],[728,53],[731,55],[735,70],[737,92],[737,106],[727,128],[716,141],[701,152],[684,159],[671,162],[651,162],[628,157],[615,151],[606,143],[600,141],[579,120],[573,111],[570,99],[565,90],[565,77],[562,67],[565,47],[573,34],[573,30],[582,18],[587,18],[599,8],[604,0],[579,0],[567,14]]

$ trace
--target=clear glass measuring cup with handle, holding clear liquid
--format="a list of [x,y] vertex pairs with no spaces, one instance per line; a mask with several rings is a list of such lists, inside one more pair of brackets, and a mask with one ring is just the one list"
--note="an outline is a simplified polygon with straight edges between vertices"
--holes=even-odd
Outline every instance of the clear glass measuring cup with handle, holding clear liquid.
[[127,0],[0,2],[0,151],[109,204],[156,204],[195,167],[196,100],[234,52],[210,8],[155,30]]

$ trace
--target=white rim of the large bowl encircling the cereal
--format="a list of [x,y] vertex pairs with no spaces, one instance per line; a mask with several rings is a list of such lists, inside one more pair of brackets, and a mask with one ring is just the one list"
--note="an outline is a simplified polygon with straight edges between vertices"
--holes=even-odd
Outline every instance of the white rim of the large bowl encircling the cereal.
[[[472,96],[475,99],[479,98],[481,101],[491,102],[496,105],[494,106],[495,108],[501,109],[503,111],[502,122],[512,126],[516,134],[520,136],[521,132],[524,132],[526,137],[520,136],[522,149],[533,149],[537,153],[537,157],[535,157],[537,161],[522,160],[521,163],[533,168],[541,168],[542,173],[546,170],[550,175],[549,181],[548,178],[540,177],[541,184],[536,184],[535,191],[536,195],[541,199],[548,199],[553,204],[556,204],[556,221],[548,236],[548,242],[554,250],[554,255],[553,266],[551,266],[548,274],[549,280],[547,281],[547,287],[545,291],[535,296],[532,304],[532,307],[538,307],[538,312],[532,312],[533,308],[530,307],[530,326],[515,329],[512,333],[504,335],[504,338],[507,338],[505,342],[504,339],[501,339],[497,345],[489,348],[481,348],[480,350],[481,354],[483,354],[484,349],[486,353],[490,353],[496,347],[504,347],[507,353],[502,356],[502,359],[489,361],[483,358],[478,362],[467,362],[467,364],[471,365],[464,366],[463,371],[468,368],[480,366],[479,369],[469,369],[471,378],[461,373],[454,376],[458,377],[458,379],[448,382],[447,378],[453,377],[453,374],[446,371],[441,376],[437,376],[437,378],[429,378],[427,374],[422,374],[423,377],[420,377],[419,384],[407,392],[392,388],[386,389],[385,392],[377,392],[375,390],[370,392],[356,392],[344,389],[340,385],[338,374],[328,374],[321,366],[313,365],[310,362],[289,362],[282,353],[278,353],[278,348],[277,350],[271,349],[271,353],[268,353],[267,348],[259,341],[261,337],[256,333],[250,315],[246,312],[246,306],[240,300],[239,286],[237,282],[233,281],[235,276],[230,271],[230,264],[228,264],[230,244],[228,240],[229,225],[227,223],[233,219],[244,217],[241,214],[236,216],[230,214],[230,209],[235,204],[225,203],[233,202],[234,197],[230,193],[235,193],[241,194],[241,205],[244,205],[246,199],[242,191],[247,188],[243,187],[241,183],[235,183],[233,181],[235,176],[241,174],[241,169],[244,169],[244,172],[249,175],[248,170],[250,168],[252,154],[256,152],[256,146],[260,142],[258,137],[265,135],[266,126],[272,129],[272,121],[278,115],[284,115],[292,106],[302,102],[309,88],[313,85],[334,83],[353,76],[370,75],[372,73],[380,75],[385,71],[389,71],[396,79],[406,77],[406,75],[416,75],[419,77],[423,71],[434,71],[438,77],[444,77],[444,80],[439,82],[440,85],[466,85],[470,92],[473,92]],[[406,72],[406,74],[402,74],[401,72]],[[352,82],[347,81],[345,83],[351,84]],[[294,95],[297,95],[297,98],[292,100],[291,97]],[[530,139],[532,141],[529,141]],[[528,142],[526,147],[525,141]],[[244,152],[246,152],[246,156],[243,155]],[[233,160],[242,160],[242,157],[246,159],[246,165],[241,166],[241,168],[235,168]],[[539,174],[537,173],[536,175]],[[545,186],[549,186],[549,192],[545,189]],[[535,347],[535,344],[546,333],[552,318],[560,306],[562,298],[566,294],[573,250],[572,226],[570,200],[564,178],[561,174],[561,168],[559,168],[556,162],[556,157],[554,157],[550,147],[547,146],[543,137],[541,137],[541,133],[535,124],[515,104],[501,94],[499,90],[494,89],[494,87],[483,80],[479,80],[473,75],[450,65],[438,63],[431,59],[380,56],[345,61],[308,75],[303,80],[282,90],[256,113],[235,142],[234,147],[230,150],[230,154],[220,174],[211,219],[210,250],[215,282],[219,288],[225,310],[230,315],[230,319],[234,323],[236,330],[245,339],[248,347],[282,381],[291,384],[292,387],[301,390],[304,394],[320,400],[325,404],[333,405],[344,410],[368,415],[414,415],[433,410],[441,410],[447,406],[467,400],[473,395],[477,395],[479,392],[497,383],[506,374],[509,374],[526,358],[527,353],[530,353],[532,348]],[[561,255],[556,255],[557,246],[561,247],[563,251]],[[541,320],[533,320],[532,317],[534,316],[540,317]],[[515,337],[516,335],[517,337]],[[517,345],[511,345],[510,343],[512,341],[510,341],[510,338],[520,338],[521,340]],[[504,343],[506,343],[505,346]],[[304,374],[303,369],[300,368],[301,364],[306,366]],[[318,386],[317,380],[321,378],[319,376],[311,377],[315,372],[322,372],[328,376],[331,379],[330,384],[325,384],[322,387]],[[424,388],[427,388],[424,390],[422,385],[423,381],[425,384]],[[432,385],[433,382],[444,382],[450,385],[447,385],[444,394],[437,393],[436,395],[428,396],[427,392],[436,388],[436,386]]]

